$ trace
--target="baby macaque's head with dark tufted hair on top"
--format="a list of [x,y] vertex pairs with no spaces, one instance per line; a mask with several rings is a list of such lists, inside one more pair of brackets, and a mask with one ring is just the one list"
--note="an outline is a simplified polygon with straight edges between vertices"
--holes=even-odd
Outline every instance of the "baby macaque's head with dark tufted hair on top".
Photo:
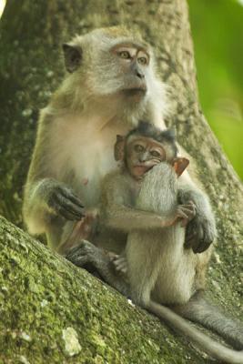
[[[136,179],[140,179],[149,169],[163,161],[171,164],[173,162],[176,166],[175,157],[177,146],[173,129],[161,131],[145,121],[140,121],[137,128],[131,130],[127,136],[116,136],[115,158],[123,161],[130,175]],[[181,164],[177,163],[177,166]]]

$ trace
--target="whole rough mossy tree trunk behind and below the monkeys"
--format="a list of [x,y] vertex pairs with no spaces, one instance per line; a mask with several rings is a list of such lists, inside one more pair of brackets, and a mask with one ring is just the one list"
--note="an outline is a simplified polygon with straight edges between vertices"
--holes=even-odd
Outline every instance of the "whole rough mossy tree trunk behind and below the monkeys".
[[[22,226],[22,188],[38,109],[64,74],[60,44],[76,33],[121,23],[137,26],[156,49],[158,69],[170,86],[167,124],[177,125],[178,140],[195,158],[217,215],[209,293],[239,316],[243,188],[198,106],[185,0],[139,0],[139,6],[134,0],[8,0],[0,23],[0,212]],[[0,363],[208,362],[176,345],[156,319],[5,219],[0,229]],[[74,357],[62,339],[68,327],[81,345]]]

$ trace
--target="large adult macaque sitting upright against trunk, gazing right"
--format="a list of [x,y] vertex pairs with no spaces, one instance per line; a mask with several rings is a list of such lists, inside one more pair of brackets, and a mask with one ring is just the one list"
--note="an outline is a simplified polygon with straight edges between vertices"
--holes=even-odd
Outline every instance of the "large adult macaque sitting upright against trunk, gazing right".
[[[123,27],[96,29],[63,50],[69,74],[41,112],[23,207],[29,232],[45,233],[56,250],[66,221],[96,207],[101,179],[115,167],[116,135],[139,118],[165,128],[167,105],[152,50],[139,35]],[[203,251],[215,237],[208,200],[192,183],[181,191],[183,203],[193,200],[197,207],[189,243]]]

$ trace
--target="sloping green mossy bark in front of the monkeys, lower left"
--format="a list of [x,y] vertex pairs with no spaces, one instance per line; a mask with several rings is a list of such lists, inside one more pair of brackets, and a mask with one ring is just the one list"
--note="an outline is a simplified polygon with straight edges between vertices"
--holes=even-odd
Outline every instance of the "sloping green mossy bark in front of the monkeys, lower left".
[[0,251],[1,364],[208,362],[3,217]]

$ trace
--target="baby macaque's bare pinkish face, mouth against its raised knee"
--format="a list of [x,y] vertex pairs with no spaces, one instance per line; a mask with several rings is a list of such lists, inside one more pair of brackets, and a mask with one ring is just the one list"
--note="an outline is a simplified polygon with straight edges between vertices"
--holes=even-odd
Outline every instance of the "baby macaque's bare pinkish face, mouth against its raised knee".
[[128,138],[126,163],[132,177],[141,179],[149,169],[165,160],[166,150],[155,139],[146,136]]

